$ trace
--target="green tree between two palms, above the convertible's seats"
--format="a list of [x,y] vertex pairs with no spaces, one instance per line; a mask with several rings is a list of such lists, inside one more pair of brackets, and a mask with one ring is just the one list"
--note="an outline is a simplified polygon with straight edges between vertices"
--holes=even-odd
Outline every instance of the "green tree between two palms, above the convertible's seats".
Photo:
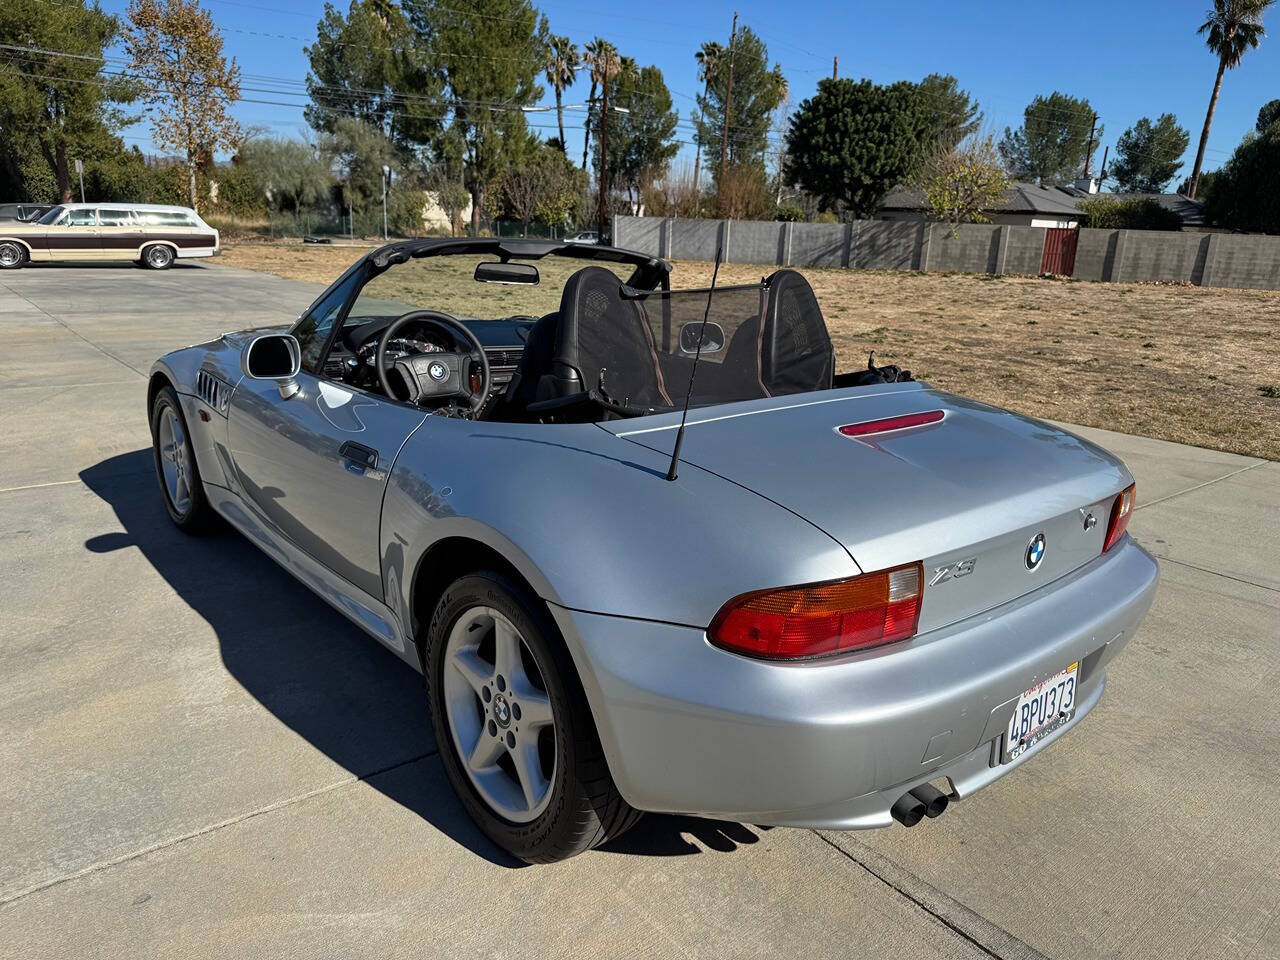
[[[644,183],[667,173],[680,151],[676,124],[680,114],[672,108],[671,92],[657,67],[637,67],[622,58],[618,74],[609,82],[609,186],[626,186],[635,204]],[[600,166],[600,116],[590,119],[595,134],[594,166]]]

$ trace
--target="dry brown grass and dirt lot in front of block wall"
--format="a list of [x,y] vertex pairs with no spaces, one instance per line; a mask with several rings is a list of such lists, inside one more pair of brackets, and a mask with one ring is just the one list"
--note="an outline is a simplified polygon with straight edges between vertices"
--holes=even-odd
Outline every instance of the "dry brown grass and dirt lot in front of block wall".
[[[332,282],[364,248],[233,244],[223,262]],[[722,283],[767,268],[726,265]],[[1280,293],[804,270],[841,370],[877,361],[1021,413],[1280,460]],[[544,289],[558,289],[548,276]],[[681,262],[677,287],[710,264]],[[461,293],[467,278],[451,280]]]

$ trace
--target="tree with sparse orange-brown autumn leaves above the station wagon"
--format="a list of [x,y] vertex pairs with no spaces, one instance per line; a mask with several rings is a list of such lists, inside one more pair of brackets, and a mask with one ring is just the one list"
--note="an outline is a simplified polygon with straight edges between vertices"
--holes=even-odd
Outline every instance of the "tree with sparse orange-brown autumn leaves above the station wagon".
[[196,166],[239,141],[230,115],[239,100],[236,59],[223,56],[221,33],[200,0],[132,0],[124,49],[154,110],[151,137],[183,156],[188,200],[198,210]]

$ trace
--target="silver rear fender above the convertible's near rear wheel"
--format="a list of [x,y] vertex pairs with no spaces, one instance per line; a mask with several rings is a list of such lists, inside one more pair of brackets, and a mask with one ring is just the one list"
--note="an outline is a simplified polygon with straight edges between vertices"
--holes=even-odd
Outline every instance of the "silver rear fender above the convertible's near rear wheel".
[[[744,452],[749,456],[749,452]],[[593,424],[428,417],[392,471],[381,545],[388,603],[412,623],[412,575],[467,536],[559,607],[705,627],[749,590],[859,573],[805,520]]]

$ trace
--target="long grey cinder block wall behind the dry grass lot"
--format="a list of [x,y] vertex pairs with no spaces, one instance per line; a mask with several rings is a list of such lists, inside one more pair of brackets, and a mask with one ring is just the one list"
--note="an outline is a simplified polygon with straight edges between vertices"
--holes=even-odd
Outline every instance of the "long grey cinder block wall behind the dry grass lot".
[[[731,264],[1033,275],[1041,270],[1044,233],[1011,224],[959,224],[952,230],[923,220],[786,224],[618,216],[613,221],[620,247],[675,260],[712,260],[723,247]],[[1280,237],[1083,229],[1073,276],[1280,289]]]

